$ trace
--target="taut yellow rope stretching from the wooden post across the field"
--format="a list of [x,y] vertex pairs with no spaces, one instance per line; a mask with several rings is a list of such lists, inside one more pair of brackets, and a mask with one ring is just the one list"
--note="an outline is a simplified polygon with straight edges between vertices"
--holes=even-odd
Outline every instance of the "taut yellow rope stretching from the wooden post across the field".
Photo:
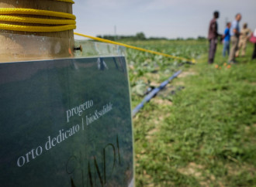
[[192,63],[195,63],[195,59],[186,59],[186,58],[179,57],[179,56],[172,56],[172,55],[168,55],[168,54],[165,54],[165,53],[159,53],[159,52],[156,52],[156,51],[143,49],[143,48],[136,47],[136,46],[130,46],[130,45],[127,45],[127,44],[124,44],[124,43],[121,43],[121,42],[113,42],[109,39],[101,39],[101,38],[94,37],[94,36],[84,35],[84,34],[81,34],[81,33],[78,33],[78,32],[74,32],[74,35],[84,36],[86,38],[94,39],[94,40],[97,40],[97,41],[100,41],[100,42],[108,42],[108,43],[116,44],[116,45],[119,45],[119,46],[125,46],[125,47],[130,48],[130,49],[137,49],[137,50],[144,51],[144,52],[147,52],[147,53],[153,53],[153,54],[156,54],[156,55],[166,56],[166,57],[169,57],[169,58],[172,58],[172,59],[181,59],[181,60],[190,61]]

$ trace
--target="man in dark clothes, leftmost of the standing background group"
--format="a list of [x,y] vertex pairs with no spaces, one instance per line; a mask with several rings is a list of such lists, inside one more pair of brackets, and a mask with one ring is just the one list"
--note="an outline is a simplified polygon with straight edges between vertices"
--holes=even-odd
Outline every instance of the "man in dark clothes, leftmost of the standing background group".
[[208,39],[209,39],[209,58],[208,63],[213,63],[214,56],[216,53],[216,47],[218,43],[218,36],[221,36],[218,33],[218,24],[216,20],[219,18],[220,13],[218,11],[213,12],[213,19],[209,22],[209,32],[208,32]]

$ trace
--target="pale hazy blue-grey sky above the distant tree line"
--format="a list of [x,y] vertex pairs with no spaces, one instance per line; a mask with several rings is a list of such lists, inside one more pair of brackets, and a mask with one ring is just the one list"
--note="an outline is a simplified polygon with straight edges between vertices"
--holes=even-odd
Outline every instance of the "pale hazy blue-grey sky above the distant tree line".
[[[74,0],[77,29],[90,36],[135,35],[168,39],[207,36],[213,12],[220,12],[219,32],[240,12],[240,27],[256,29],[256,0]],[[80,39],[76,36],[75,39]]]

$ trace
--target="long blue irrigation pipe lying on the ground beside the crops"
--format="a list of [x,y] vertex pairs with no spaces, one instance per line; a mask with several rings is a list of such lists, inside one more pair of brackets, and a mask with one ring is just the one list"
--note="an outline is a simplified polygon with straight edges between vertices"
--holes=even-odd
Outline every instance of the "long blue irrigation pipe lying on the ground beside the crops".
[[147,94],[147,96],[144,97],[144,100],[141,101],[140,104],[137,105],[137,107],[133,108],[132,116],[134,117],[137,112],[144,107],[144,104],[146,104],[152,97],[154,97],[160,90],[162,90],[171,80],[175,79],[179,73],[182,73],[182,70],[178,70],[176,73],[174,73],[168,80],[165,80],[161,85],[157,88],[154,88],[154,90],[150,91],[150,93]]

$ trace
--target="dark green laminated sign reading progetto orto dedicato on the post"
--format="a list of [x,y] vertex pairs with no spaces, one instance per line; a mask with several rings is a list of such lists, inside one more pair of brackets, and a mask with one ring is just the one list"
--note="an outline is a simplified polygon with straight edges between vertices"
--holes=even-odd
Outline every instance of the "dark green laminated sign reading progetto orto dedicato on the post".
[[123,56],[0,63],[1,186],[133,183]]

